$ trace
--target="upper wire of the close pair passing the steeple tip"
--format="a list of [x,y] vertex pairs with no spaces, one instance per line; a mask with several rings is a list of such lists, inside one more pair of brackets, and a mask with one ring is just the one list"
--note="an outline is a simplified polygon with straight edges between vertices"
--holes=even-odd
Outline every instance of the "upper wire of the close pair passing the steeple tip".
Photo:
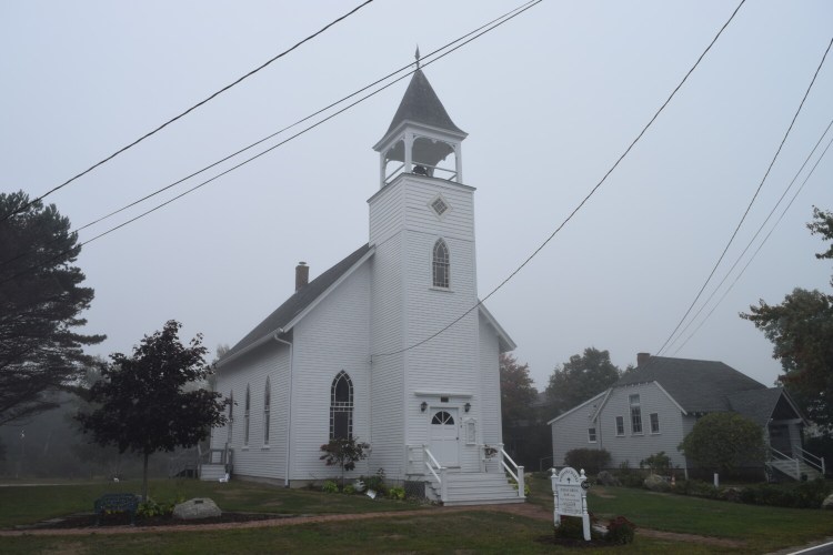
[[[462,37],[459,37],[458,39],[454,39],[453,41],[451,41],[451,42],[448,42],[448,43],[445,43],[444,46],[442,46],[442,47],[440,47],[440,48],[438,48],[438,49],[435,49],[435,50],[433,50],[433,51],[429,52],[428,54],[425,54],[424,57],[422,57],[422,58],[421,58],[421,61],[422,61],[422,62],[423,62],[423,63],[424,63],[425,65],[428,65],[428,64],[430,64],[430,63],[432,63],[432,62],[430,62],[430,61],[425,62],[425,60],[428,60],[428,59],[430,59],[430,58],[432,58],[432,57],[436,56],[436,54],[438,54],[439,52],[442,52],[443,50],[446,50],[446,49],[449,49],[450,47],[452,47],[452,46],[456,44],[458,42],[460,42],[460,41],[462,41],[462,40],[464,40],[464,39],[466,39],[466,38],[469,38],[469,37],[473,36],[474,33],[478,33],[479,31],[482,31],[483,29],[485,29],[485,28],[488,28],[488,27],[492,26],[493,23],[495,23],[495,22],[498,22],[498,21],[500,21],[500,20],[503,20],[503,19],[509,19],[509,16],[511,16],[512,13],[514,13],[514,12],[519,12],[519,13],[520,13],[520,11],[521,11],[521,10],[523,10],[523,9],[525,9],[525,8],[531,8],[531,7],[532,7],[531,4],[540,3],[541,1],[542,1],[542,0],[531,0],[531,1],[526,2],[526,3],[524,3],[524,4],[521,4],[521,6],[519,6],[519,7],[514,8],[514,9],[512,9],[512,10],[510,10],[510,11],[508,11],[508,12],[503,13],[502,16],[500,16],[500,17],[498,17],[498,18],[494,18],[493,20],[491,20],[491,21],[489,21],[489,22],[486,22],[486,23],[484,23],[484,24],[480,26],[479,28],[476,28],[476,29],[474,29],[474,30],[472,30],[472,31],[468,32],[466,34],[463,34]],[[461,44],[461,46],[462,46],[462,44]],[[444,56],[444,54],[443,54],[443,56]],[[439,58],[438,58],[438,60],[439,60]],[[140,203],[142,203],[142,202],[144,202],[144,201],[147,201],[147,200],[149,200],[149,199],[151,199],[151,198],[153,198],[153,196],[155,196],[155,195],[158,195],[158,194],[160,194],[160,193],[164,192],[164,191],[168,191],[169,189],[172,189],[172,188],[174,188],[175,185],[179,185],[179,184],[181,184],[181,183],[183,183],[183,182],[185,182],[185,181],[188,181],[188,180],[190,180],[190,179],[192,179],[192,178],[195,178],[197,175],[199,175],[199,174],[201,174],[201,173],[204,173],[204,172],[207,172],[208,170],[210,170],[210,169],[212,169],[212,168],[215,168],[215,167],[218,167],[218,165],[222,164],[223,162],[227,162],[227,161],[229,161],[229,160],[233,159],[234,157],[238,157],[239,154],[242,154],[243,152],[245,152],[245,151],[248,151],[248,150],[251,150],[251,149],[253,149],[254,147],[257,147],[257,145],[259,145],[259,144],[262,144],[262,143],[264,143],[265,141],[268,141],[268,140],[270,140],[270,139],[273,139],[273,138],[275,138],[275,137],[280,135],[281,133],[284,133],[285,131],[289,131],[290,129],[292,129],[292,128],[295,128],[295,127],[300,125],[301,123],[303,123],[303,122],[305,122],[305,121],[309,121],[309,120],[313,119],[314,117],[317,117],[317,115],[320,115],[321,113],[324,113],[324,112],[327,112],[328,110],[330,110],[330,109],[332,109],[332,108],[334,108],[334,107],[337,107],[337,105],[339,105],[339,104],[343,103],[344,101],[347,101],[347,100],[349,100],[349,99],[351,99],[351,98],[353,98],[353,97],[355,97],[355,95],[358,95],[358,94],[360,94],[360,93],[362,93],[362,92],[367,91],[368,89],[371,89],[371,88],[375,87],[377,84],[379,84],[379,83],[381,83],[381,82],[383,82],[383,81],[385,81],[385,80],[390,79],[391,77],[395,75],[397,73],[401,73],[402,71],[407,70],[407,69],[408,69],[408,68],[410,68],[411,65],[413,65],[413,63],[408,63],[408,64],[405,64],[405,65],[402,65],[401,68],[399,68],[399,69],[397,69],[397,70],[394,70],[394,71],[392,71],[392,72],[388,73],[387,75],[384,75],[384,77],[382,77],[382,78],[380,78],[380,79],[377,79],[377,80],[375,80],[375,81],[373,81],[372,83],[370,83],[370,84],[368,84],[368,85],[365,85],[365,87],[363,87],[363,88],[359,89],[358,91],[354,91],[354,92],[352,92],[352,93],[348,94],[347,97],[343,97],[343,98],[341,98],[340,100],[337,100],[335,102],[332,102],[332,103],[328,104],[327,107],[324,107],[324,108],[322,108],[322,109],[320,109],[320,110],[317,110],[315,112],[312,112],[311,114],[309,114],[309,115],[307,115],[307,117],[304,117],[304,118],[302,118],[302,119],[300,119],[300,120],[295,121],[294,123],[291,123],[291,124],[289,124],[289,125],[287,125],[287,127],[284,127],[284,128],[282,128],[282,129],[280,129],[280,130],[278,130],[278,131],[275,131],[275,132],[273,132],[273,133],[271,133],[271,134],[269,134],[269,135],[267,135],[267,137],[264,137],[264,138],[262,138],[262,139],[260,139],[260,140],[258,140],[258,141],[253,142],[253,143],[251,143],[251,144],[249,144],[249,145],[247,145],[247,147],[243,147],[242,149],[240,149],[240,150],[238,150],[238,151],[235,151],[235,152],[233,152],[233,153],[231,153],[231,154],[229,154],[229,155],[227,155],[227,157],[224,157],[224,158],[222,158],[222,159],[220,159],[220,160],[218,160],[218,161],[215,161],[215,162],[213,162],[213,163],[211,163],[211,164],[209,164],[209,165],[205,165],[204,168],[202,168],[202,169],[200,169],[200,170],[197,170],[197,171],[194,171],[194,172],[190,173],[189,175],[185,175],[185,176],[184,176],[184,178],[182,178],[182,179],[179,179],[179,180],[177,180],[177,181],[174,181],[174,182],[172,182],[172,183],[170,183],[170,184],[168,184],[168,185],[165,185],[165,186],[163,186],[163,188],[161,188],[161,189],[157,189],[155,191],[153,191],[153,192],[151,192],[151,193],[149,193],[149,194],[147,194],[147,195],[144,195],[144,196],[142,196],[142,198],[140,198],[140,199],[137,199],[137,200],[134,200],[134,201],[130,202],[129,204],[126,204],[126,205],[123,205],[123,206],[121,206],[121,208],[119,208],[119,209],[117,209],[117,210],[114,210],[114,211],[112,211],[112,212],[110,212],[110,213],[108,213],[108,214],[106,214],[106,215],[102,215],[102,216],[98,218],[97,220],[93,220],[92,222],[89,222],[89,223],[87,223],[87,224],[84,224],[84,225],[81,225],[80,228],[76,228],[76,229],[73,230],[73,233],[78,233],[78,232],[80,232],[80,231],[83,231],[83,230],[86,230],[86,229],[88,229],[88,228],[92,226],[92,225],[96,225],[96,224],[98,224],[98,223],[101,223],[101,222],[103,222],[104,220],[108,220],[108,219],[110,219],[110,218],[112,218],[112,216],[114,216],[114,215],[117,215],[117,214],[119,214],[119,213],[121,213],[121,212],[123,212],[123,211],[126,211],[126,210],[130,209],[130,208],[133,208],[133,206],[136,206],[137,204],[140,204]],[[393,81],[392,83],[388,84],[387,87],[390,87],[391,84],[393,84],[393,83],[395,83],[395,82],[398,82],[398,81],[401,81],[402,79],[404,79],[405,77],[409,77],[409,75],[411,75],[412,73],[413,73],[413,71],[411,71],[411,72],[407,73],[405,75],[402,75],[402,77],[400,77],[399,79],[397,79],[397,80],[395,80],[395,81]],[[387,87],[385,87],[385,88],[387,88]],[[383,90],[383,89],[380,89],[380,90],[379,90],[379,91],[377,91],[377,92],[380,92],[381,90]],[[374,93],[374,94],[375,94],[375,93]],[[371,94],[371,95],[372,95],[372,94]],[[368,97],[365,97],[365,98],[369,98],[369,97],[370,97],[370,95],[368,95]],[[364,100],[364,99],[362,99],[362,100]],[[350,105],[350,107],[348,107],[348,108],[351,108],[352,105],[354,105],[354,104],[351,104],[351,105]],[[342,111],[343,111],[343,110],[342,110]],[[339,112],[339,113],[340,113],[340,112]],[[322,120],[322,121],[321,121],[321,122],[319,122],[319,123],[322,123],[323,121],[327,121],[327,120]],[[313,127],[314,127],[314,125],[313,125]],[[308,128],[308,129],[305,129],[305,130],[304,130],[303,132],[307,132],[307,131],[309,131],[310,129],[312,129],[312,128]],[[290,139],[288,139],[288,140],[292,140],[292,139],[294,139],[295,137],[298,137],[298,135],[293,135],[293,137],[291,137],[291,138],[290,138]],[[284,142],[287,142],[287,141],[284,141]],[[280,144],[279,144],[279,145],[280,145]],[[278,145],[278,147],[279,147],[279,145]],[[219,176],[219,175],[218,175],[218,176]],[[205,184],[205,183],[202,183],[202,184]],[[187,192],[190,192],[190,191],[187,191]],[[173,200],[175,200],[175,199],[173,199]],[[37,199],[36,199],[34,201],[32,201],[32,202],[37,202]],[[30,204],[31,204],[31,203],[30,203]],[[161,205],[160,205],[160,206],[158,206],[158,208],[161,208]],[[24,208],[22,208],[22,209],[19,209],[19,211],[22,211],[22,210],[24,210]],[[149,211],[149,212],[150,212],[150,211]],[[148,212],[148,213],[149,213],[149,212]],[[144,214],[142,214],[142,215],[144,215]],[[129,223],[129,222],[127,222],[127,223]],[[113,230],[111,230],[111,231],[114,231],[114,229],[113,229]],[[47,244],[51,244],[51,243],[53,243],[53,242],[56,242],[56,241],[58,241],[58,240],[59,240],[59,239],[53,239],[52,241],[48,242]],[[20,259],[22,259],[22,258],[26,258],[26,256],[28,256],[29,254],[31,254],[31,253],[30,253],[30,252],[22,252],[22,253],[20,253],[20,254],[18,254],[18,255],[16,255],[16,256],[12,256],[12,258],[10,258],[10,259],[7,259],[7,260],[3,260],[3,261],[0,261],[0,268],[2,268],[2,266],[3,266],[3,265],[6,265],[6,264],[9,264],[9,263],[11,263],[11,262],[14,262],[14,261],[17,261],[17,260],[20,260]]]

